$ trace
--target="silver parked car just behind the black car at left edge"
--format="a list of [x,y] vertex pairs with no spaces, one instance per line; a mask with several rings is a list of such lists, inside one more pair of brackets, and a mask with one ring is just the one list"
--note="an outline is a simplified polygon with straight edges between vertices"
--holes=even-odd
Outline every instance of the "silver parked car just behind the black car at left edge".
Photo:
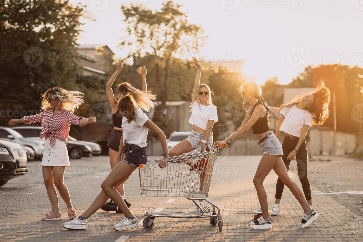
[[35,153],[35,158],[38,160],[41,160],[43,157],[44,143],[42,141],[25,138],[16,130],[0,126],[0,139],[13,141],[17,144],[26,145],[32,148]]

